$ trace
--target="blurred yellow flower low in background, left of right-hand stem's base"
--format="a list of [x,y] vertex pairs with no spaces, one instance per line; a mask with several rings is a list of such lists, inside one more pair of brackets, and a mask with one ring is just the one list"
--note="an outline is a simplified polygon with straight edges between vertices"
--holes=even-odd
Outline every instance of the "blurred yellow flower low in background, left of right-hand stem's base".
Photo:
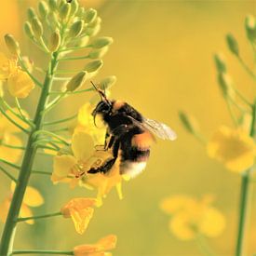
[[215,237],[222,234],[225,218],[222,212],[211,206],[212,196],[196,200],[187,195],[174,195],[164,199],[160,208],[170,214],[169,230],[182,240],[198,235]]

